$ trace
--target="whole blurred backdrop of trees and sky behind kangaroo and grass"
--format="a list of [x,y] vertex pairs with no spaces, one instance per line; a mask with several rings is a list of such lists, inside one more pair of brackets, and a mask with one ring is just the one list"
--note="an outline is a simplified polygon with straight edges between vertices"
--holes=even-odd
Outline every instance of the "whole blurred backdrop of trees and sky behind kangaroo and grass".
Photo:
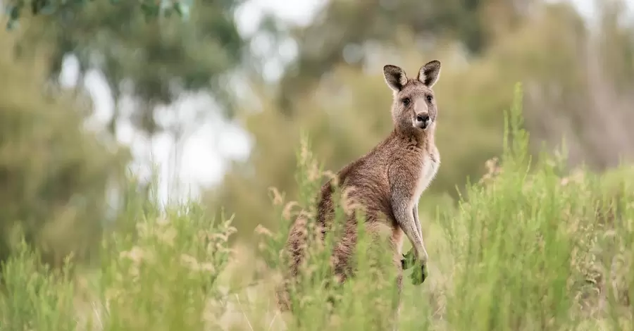
[[442,61],[443,163],[421,208],[500,154],[515,82],[536,156],[564,142],[597,171],[634,156],[632,0],[198,0],[187,22],[130,6],[0,32],[0,258],[16,224],[49,261],[93,256],[153,174],[161,201],[225,208],[248,242],[275,225],[268,187],[295,198],[300,132],[329,170],[390,132],[387,63]]

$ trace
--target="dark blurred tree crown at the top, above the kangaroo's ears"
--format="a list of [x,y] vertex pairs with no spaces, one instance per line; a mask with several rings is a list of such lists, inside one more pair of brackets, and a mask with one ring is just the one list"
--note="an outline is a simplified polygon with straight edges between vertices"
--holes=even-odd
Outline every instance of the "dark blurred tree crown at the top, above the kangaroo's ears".
[[500,33],[521,26],[540,0],[331,0],[316,20],[297,29],[299,56],[282,77],[280,105],[290,114],[290,98],[309,91],[337,63],[361,65],[369,44],[389,45],[402,30],[411,43],[454,39],[470,54],[481,54]]

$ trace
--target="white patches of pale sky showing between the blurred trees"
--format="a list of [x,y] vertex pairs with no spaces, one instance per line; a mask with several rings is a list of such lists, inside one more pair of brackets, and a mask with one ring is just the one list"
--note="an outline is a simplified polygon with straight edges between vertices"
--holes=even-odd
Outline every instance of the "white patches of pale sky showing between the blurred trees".
[[[552,0],[556,1],[556,0]],[[593,0],[575,0],[580,11],[586,17],[592,15]],[[634,0],[628,0],[634,4]],[[261,19],[261,13],[275,13],[279,18],[288,20],[292,23],[307,24],[311,20],[315,11],[324,4],[325,0],[251,0],[239,11],[237,11],[237,22],[239,30],[245,35],[250,35],[256,29]],[[252,51],[259,51],[259,48],[265,48],[266,42],[256,42],[251,46]],[[292,54],[292,45],[286,47],[286,53]],[[283,50],[280,50],[283,51]],[[64,84],[73,84],[77,74],[75,58],[69,57],[64,63],[64,69],[61,80]],[[278,76],[280,73],[279,63],[270,63],[265,68],[265,74],[271,77]],[[107,93],[107,86],[101,75],[97,72],[90,73],[86,79],[86,85],[92,96],[94,97],[97,108],[96,115],[89,125],[102,125],[104,120],[108,118],[108,114],[112,111],[113,101]],[[209,98],[204,96],[196,97],[178,104],[177,108],[182,115],[188,115],[187,109],[196,109],[197,107],[206,106]],[[175,161],[173,153],[173,141],[170,137],[159,136],[148,142],[147,139],[135,135],[132,127],[127,124],[121,125],[120,135],[118,139],[125,144],[132,146],[132,151],[137,158],[135,169],[140,174],[147,173],[147,166],[151,154],[154,154],[154,161],[159,163],[161,167],[161,185],[160,195],[163,201],[168,196],[168,179],[173,176],[171,169]],[[213,116],[206,123],[202,123],[197,130],[192,132],[185,144],[183,144],[180,156],[180,171],[178,175],[180,181],[188,186],[185,188],[189,194],[197,195],[199,187],[215,185],[222,180],[223,173],[227,169],[228,159],[242,160],[249,154],[251,141],[244,131],[240,129],[240,125],[235,123],[225,123],[219,116]],[[173,192],[178,194],[178,192]],[[178,196],[182,196],[180,192]],[[172,194],[169,194],[172,196]]]

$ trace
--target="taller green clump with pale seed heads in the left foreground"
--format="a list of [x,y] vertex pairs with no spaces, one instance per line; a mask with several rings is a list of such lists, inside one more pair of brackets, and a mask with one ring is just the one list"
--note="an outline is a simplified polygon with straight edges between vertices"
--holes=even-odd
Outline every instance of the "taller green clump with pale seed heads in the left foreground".
[[110,254],[99,275],[103,330],[215,325],[225,294],[216,280],[228,263],[228,239],[235,231],[230,223],[192,203],[137,222],[136,239],[106,237]]

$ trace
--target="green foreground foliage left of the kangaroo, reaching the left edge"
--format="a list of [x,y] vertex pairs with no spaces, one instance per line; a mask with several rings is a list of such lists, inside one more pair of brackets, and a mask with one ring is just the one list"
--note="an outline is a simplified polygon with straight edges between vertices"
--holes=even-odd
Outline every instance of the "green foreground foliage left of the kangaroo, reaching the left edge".
[[231,219],[194,202],[146,202],[125,213],[134,233],[102,237],[96,269],[51,270],[22,241],[0,276],[0,330],[217,330]]

